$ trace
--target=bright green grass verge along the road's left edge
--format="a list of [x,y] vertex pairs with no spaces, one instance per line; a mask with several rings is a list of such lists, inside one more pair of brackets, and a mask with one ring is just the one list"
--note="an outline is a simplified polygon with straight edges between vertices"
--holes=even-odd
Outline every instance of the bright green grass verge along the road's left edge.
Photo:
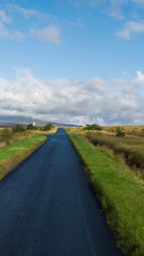
[[34,135],[31,138],[10,143],[9,146],[0,149],[0,179],[5,176],[7,170],[17,162],[25,159],[37,147],[46,141],[45,136]]

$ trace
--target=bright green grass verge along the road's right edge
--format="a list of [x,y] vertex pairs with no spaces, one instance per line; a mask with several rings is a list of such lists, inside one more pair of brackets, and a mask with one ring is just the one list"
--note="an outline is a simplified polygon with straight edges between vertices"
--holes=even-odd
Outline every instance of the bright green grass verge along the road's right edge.
[[144,252],[143,179],[131,173],[120,156],[86,141],[81,133],[68,133],[91,179],[117,246],[124,253]]

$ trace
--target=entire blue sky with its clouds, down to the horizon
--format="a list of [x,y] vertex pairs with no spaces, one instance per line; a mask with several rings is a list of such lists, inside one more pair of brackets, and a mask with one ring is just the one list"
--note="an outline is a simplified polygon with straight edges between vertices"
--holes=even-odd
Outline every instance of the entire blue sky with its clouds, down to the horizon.
[[[143,14],[144,0],[1,1],[0,115],[144,124]],[[46,112],[37,95],[27,109],[30,85]]]

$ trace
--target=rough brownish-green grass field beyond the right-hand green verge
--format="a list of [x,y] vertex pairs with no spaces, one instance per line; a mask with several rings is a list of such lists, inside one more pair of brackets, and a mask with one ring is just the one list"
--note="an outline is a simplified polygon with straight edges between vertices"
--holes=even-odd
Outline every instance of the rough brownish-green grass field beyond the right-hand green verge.
[[127,163],[139,168],[144,177],[144,138],[130,135],[117,137],[97,131],[89,131],[86,136],[94,145],[105,145],[116,154],[123,154]]

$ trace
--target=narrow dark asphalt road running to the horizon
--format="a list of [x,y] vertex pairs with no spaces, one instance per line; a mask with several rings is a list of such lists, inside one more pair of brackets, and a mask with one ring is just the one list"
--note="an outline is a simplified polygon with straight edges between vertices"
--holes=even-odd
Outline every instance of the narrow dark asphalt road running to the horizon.
[[67,133],[0,182],[0,255],[123,255]]

